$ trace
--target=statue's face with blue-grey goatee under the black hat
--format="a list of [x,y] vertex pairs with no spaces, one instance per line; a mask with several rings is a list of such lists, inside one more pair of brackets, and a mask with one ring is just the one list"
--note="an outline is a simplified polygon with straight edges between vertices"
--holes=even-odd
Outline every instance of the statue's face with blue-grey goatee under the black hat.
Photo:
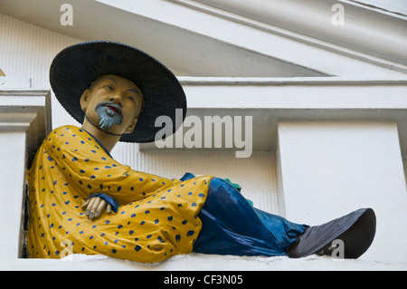
[[133,82],[117,75],[105,75],[83,92],[80,106],[101,130],[124,134],[136,127],[143,94]]

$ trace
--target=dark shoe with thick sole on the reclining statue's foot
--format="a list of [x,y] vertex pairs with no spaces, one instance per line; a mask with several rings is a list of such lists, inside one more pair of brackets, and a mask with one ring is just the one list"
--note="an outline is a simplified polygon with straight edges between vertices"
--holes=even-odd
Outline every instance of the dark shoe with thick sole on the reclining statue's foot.
[[307,255],[331,255],[336,239],[343,241],[344,255],[348,259],[357,259],[363,255],[374,240],[376,217],[372,208],[361,208],[336,218],[320,226],[309,226],[298,236],[297,243],[287,253],[290,258]]

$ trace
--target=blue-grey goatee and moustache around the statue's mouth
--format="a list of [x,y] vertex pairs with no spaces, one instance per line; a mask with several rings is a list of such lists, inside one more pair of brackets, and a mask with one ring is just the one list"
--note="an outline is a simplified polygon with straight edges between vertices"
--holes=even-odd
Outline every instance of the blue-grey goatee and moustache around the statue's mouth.
[[99,117],[99,128],[105,132],[110,130],[113,124],[120,125],[123,122],[123,111],[112,101],[99,102],[95,111]]

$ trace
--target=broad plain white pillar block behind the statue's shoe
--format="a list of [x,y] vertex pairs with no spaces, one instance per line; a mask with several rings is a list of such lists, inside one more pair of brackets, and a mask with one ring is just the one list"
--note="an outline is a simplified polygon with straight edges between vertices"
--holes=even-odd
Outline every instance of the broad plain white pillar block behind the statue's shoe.
[[366,260],[407,259],[407,194],[397,125],[393,122],[280,122],[279,200],[285,217],[320,225],[374,208]]

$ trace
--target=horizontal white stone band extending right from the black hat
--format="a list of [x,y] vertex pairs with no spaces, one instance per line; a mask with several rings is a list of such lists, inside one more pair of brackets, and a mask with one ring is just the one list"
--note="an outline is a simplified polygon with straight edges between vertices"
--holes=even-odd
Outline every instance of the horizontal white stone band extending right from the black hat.
[[407,109],[407,79],[180,77],[190,109]]

